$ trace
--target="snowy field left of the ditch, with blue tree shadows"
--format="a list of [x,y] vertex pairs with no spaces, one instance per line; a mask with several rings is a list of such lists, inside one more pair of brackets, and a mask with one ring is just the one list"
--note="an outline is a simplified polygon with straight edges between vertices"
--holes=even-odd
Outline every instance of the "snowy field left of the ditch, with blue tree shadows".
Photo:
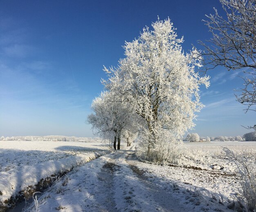
[[102,143],[61,141],[0,141],[0,205],[36,185],[41,179],[66,172],[106,154]]

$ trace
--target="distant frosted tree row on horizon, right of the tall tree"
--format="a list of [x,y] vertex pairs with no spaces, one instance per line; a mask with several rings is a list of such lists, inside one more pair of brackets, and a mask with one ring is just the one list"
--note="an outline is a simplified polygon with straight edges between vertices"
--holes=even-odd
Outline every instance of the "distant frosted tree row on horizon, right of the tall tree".
[[[247,133],[248,136],[251,136],[251,134]],[[245,135],[247,135],[245,134]],[[243,138],[245,138],[245,135],[243,136]],[[189,133],[186,136],[186,141],[189,142],[199,142],[199,141],[205,141],[205,142],[210,142],[210,141],[243,141],[243,138],[241,136],[218,136],[218,137],[200,137],[197,133]],[[246,140],[246,139],[245,139]],[[247,141],[247,140],[246,140]]]

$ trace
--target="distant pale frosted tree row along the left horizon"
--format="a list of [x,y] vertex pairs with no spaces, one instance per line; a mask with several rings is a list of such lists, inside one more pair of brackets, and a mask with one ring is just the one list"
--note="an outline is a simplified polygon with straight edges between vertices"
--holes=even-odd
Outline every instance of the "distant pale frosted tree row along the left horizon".
[[75,136],[11,136],[0,137],[0,141],[81,141],[81,142],[101,142],[101,138],[86,138]]

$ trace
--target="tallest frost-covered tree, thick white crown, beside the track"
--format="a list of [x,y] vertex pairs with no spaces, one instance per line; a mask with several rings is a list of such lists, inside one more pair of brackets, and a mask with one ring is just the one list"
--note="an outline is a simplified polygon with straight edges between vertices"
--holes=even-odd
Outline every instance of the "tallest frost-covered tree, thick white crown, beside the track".
[[[194,126],[194,112],[203,107],[199,87],[208,87],[209,77],[195,72],[200,58],[184,55],[183,38],[177,38],[169,18],[157,20],[152,27],[125,43],[126,58],[119,60],[118,68],[105,68],[109,79],[103,84],[144,120],[140,138],[148,160],[158,161],[162,148],[168,150],[170,141],[181,139]],[[168,142],[163,147],[159,144],[166,134]]]

